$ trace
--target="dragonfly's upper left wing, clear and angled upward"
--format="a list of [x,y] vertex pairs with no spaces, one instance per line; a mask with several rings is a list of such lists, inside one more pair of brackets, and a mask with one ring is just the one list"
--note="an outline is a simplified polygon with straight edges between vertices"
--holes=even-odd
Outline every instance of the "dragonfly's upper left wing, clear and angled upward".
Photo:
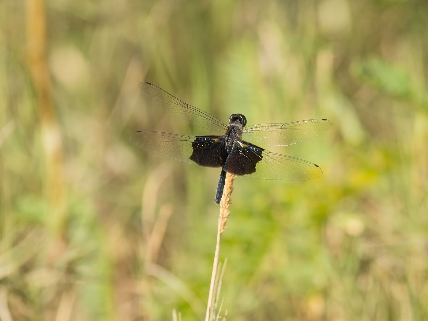
[[222,134],[226,132],[227,126],[209,113],[186,104],[184,101],[151,83],[142,82],[139,86],[150,101],[176,119],[188,124],[219,131]]

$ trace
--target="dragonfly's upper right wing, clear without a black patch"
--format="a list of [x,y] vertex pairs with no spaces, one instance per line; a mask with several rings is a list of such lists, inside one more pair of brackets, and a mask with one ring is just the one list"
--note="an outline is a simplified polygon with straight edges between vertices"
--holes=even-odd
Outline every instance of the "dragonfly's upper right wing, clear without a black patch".
[[243,140],[271,146],[288,146],[317,137],[331,127],[327,119],[308,119],[286,124],[260,124],[243,129]]

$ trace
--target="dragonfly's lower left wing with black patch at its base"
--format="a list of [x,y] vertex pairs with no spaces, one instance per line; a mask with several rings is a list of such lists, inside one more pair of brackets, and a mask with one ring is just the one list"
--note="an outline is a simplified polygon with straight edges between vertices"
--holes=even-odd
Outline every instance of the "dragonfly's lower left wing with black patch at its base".
[[136,131],[129,139],[146,151],[190,164],[221,167],[226,159],[223,136],[184,136],[157,131]]

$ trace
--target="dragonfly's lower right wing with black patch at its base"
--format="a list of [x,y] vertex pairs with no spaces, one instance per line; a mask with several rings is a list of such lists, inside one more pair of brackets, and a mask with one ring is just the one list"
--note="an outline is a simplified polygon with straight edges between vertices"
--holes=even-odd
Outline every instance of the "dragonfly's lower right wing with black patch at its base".
[[247,142],[236,145],[224,169],[235,175],[253,178],[305,181],[322,175],[318,165],[291,156],[276,154]]

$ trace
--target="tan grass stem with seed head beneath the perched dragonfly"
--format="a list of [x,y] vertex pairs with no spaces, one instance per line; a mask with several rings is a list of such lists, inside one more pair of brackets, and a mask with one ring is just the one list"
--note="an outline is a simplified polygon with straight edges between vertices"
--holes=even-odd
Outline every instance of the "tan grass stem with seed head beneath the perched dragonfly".
[[208,294],[208,303],[207,303],[207,312],[205,314],[205,321],[210,320],[211,312],[214,308],[214,288],[215,288],[215,280],[217,277],[217,271],[218,271],[218,260],[220,256],[220,240],[221,235],[226,229],[226,222],[227,218],[229,217],[229,206],[231,204],[230,195],[232,194],[233,190],[233,180],[235,179],[236,175],[232,175],[227,173],[226,174],[226,181],[224,184],[223,189],[223,196],[221,197],[220,201],[220,214],[218,217],[218,225],[217,225],[217,243],[215,247],[214,252],[214,263],[213,263],[213,270],[211,273],[211,283],[210,283],[210,291]]

